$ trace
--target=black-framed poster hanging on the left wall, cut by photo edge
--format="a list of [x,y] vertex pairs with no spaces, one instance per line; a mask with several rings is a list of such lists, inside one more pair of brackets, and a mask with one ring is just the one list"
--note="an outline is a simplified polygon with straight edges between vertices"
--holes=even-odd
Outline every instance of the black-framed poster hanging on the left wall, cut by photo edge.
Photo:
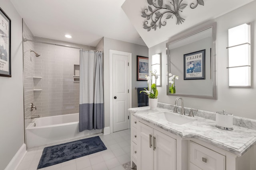
[[0,76],[11,77],[11,20],[0,8]]

